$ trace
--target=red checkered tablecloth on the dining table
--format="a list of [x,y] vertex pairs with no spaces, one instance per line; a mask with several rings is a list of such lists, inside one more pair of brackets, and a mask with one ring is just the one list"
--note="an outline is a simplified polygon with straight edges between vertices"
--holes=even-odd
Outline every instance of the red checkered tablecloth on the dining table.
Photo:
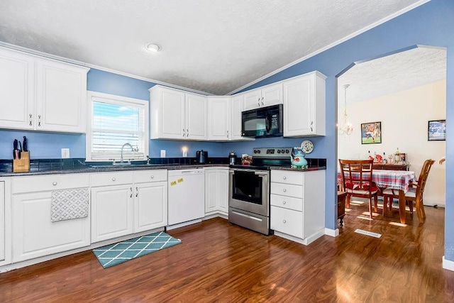
[[[353,173],[355,177],[355,173]],[[358,173],[359,177],[359,173]],[[409,183],[414,181],[414,172],[406,170],[372,170],[372,181],[378,187],[409,190]],[[338,172],[338,182],[342,182],[341,172]]]

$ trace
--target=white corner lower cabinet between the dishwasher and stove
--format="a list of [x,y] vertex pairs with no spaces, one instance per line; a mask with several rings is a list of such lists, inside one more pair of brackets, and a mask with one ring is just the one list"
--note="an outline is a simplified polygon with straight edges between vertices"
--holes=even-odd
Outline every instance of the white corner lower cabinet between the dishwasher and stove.
[[205,168],[205,215],[228,216],[228,167]]

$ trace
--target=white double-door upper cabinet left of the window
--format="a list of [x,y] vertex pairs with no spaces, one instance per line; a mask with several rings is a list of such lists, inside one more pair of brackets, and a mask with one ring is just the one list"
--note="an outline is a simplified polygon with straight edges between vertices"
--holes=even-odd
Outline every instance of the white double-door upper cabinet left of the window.
[[84,133],[88,70],[0,48],[0,128]]

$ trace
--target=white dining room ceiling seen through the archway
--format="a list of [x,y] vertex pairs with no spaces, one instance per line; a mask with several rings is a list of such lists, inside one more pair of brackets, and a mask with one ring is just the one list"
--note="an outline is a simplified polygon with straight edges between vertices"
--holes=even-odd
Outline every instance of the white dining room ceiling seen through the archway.
[[[338,102],[348,104],[400,92],[446,78],[446,50],[418,45],[393,55],[359,62],[338,78]],[[347,106],[348,106],[347,104]]]

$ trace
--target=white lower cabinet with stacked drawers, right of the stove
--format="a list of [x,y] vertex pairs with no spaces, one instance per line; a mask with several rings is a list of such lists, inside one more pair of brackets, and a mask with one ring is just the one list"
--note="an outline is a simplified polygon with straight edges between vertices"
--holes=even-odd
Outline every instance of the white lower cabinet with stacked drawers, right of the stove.
[[270,225],[275,235],[305,245],[323,236],[325,170],[272,170],[270,198]]

